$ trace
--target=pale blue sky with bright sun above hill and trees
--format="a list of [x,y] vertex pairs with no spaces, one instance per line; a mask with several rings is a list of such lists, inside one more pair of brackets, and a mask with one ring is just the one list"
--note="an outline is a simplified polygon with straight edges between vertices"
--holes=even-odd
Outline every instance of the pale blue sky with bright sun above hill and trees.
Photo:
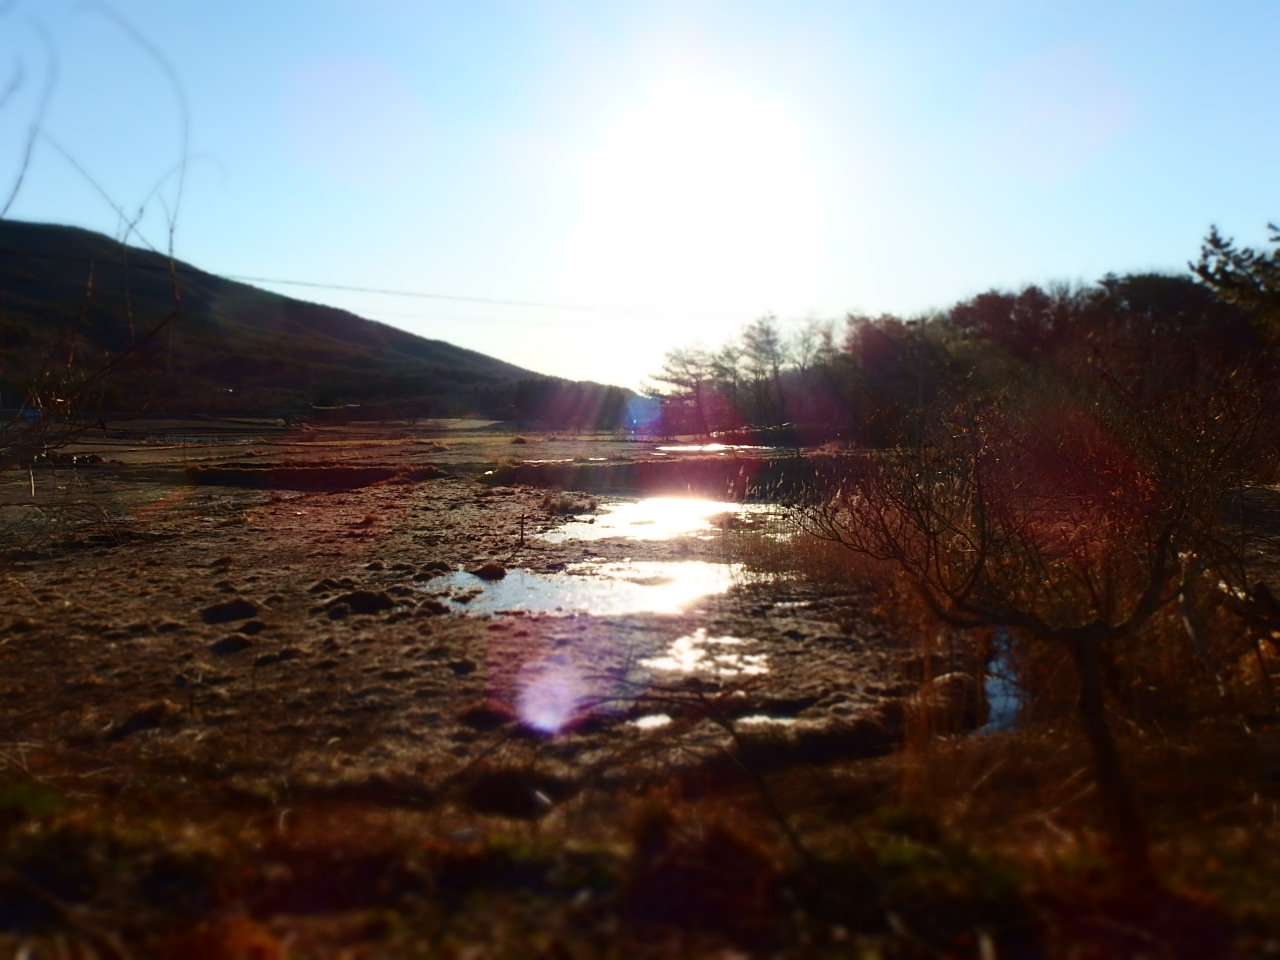
[[175,212],[206,270],[634,387],[767,312],[1262,243],[1277,41],[1276,0],[0,0],[0,205],[49,90],[8,216]]

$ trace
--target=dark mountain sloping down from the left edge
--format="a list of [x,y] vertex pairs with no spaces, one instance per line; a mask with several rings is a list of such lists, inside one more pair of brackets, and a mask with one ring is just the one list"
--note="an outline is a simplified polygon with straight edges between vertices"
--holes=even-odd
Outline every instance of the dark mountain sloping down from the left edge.
[[504,416],[515,384],[545,379],[91,230],[0,220],[0,407],[41,378],[56,384],[116,358],[120,375],[95,387],[105,408],[380,403]]

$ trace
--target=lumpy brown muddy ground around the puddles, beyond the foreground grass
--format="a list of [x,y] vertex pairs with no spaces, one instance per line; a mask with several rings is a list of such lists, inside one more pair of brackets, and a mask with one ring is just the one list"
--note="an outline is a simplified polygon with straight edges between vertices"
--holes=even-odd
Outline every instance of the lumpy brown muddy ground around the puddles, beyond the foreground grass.
[[[620,460],[643,445],[440,425],[275,428],[205,444],[196,430],[209,434],[187,424],[152,426],[161,439],[150,442],[86,438],[67,453],[101,463],[32,475],[59,524],[5,571],[10,763],[74,769],[108,792],[154,771],[205,800],[376,786],[521,817],[582,790],[708,774],[744,750],[760,763],[881,754],[901,731],[893,704],[911,687],[856,596],[744,576],[681,614],[471,614],[465,600],[484,579],[440,586],[445,571],[486,563],[724,559],[716,531],[548,543],[539,534],[609,499],[485,476],[516,458]],[[338,489],[191,472],[227,465]],[[298,466],[314,475],[280,472]],[[343,470],[374,466],[390,477],[340,489]],[[32,476],[8,477],[10,526]],[[755,669],[644,666],[699,628],[741,641],[739,666]],[[672,722],[634,722],[659,714]],[[758,717],[776,722],[737,722]],[[477,786],[477,771],[509,769],[524,778],[515,788]]]

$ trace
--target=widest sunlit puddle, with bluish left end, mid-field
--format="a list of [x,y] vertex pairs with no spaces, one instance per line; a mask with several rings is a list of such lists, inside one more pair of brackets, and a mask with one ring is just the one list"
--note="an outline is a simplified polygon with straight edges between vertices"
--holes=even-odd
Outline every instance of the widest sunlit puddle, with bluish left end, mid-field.
[[[722,594],[742,575],[741,563],[623,561],[570,563],[562,573],[508,570],[497,581],[454,572],[426,589],[457,612],[681,613],[695,600]],[[444,591],[448,593],[444,593]],[[470,598],[470,599],[463,599]]]

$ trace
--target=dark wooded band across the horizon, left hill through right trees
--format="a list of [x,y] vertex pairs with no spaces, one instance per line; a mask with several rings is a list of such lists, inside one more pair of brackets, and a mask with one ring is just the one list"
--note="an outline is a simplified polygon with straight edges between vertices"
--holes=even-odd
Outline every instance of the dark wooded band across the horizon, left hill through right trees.
[[919,439],[940,411],[996,404],[1028,384],[1102,415],[1102,397],[1132,413],[1248,379],[1268,404],[1260,429],[1270,429],[1276,253],[1211,230],[1189,268],[991,291],[922,316],[799,325],[765,316],[718,347],[672,349],[641,397],[543,376],[101,234],[0,220],[0,420],[479,416],[526,429],[893,447]]

